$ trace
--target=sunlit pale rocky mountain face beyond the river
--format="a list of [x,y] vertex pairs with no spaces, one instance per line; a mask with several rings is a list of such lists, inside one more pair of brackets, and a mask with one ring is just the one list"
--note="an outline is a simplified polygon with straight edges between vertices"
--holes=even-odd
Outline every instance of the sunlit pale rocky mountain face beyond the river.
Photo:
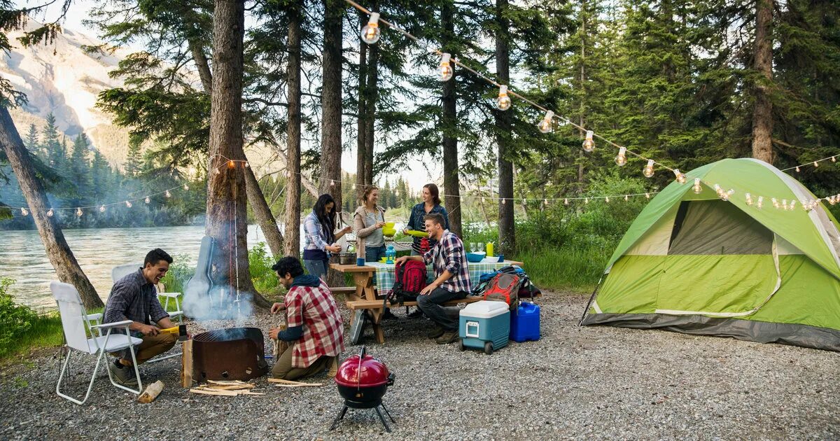
[[74,138],[82,131],[112,165],[122,165],[129,146],[128,129],[113,125],[112,117],[96,107],[97,95],[105,89],[122,87],[123,82],[108,77],[129,54],[118,49],[113,55],[90,55],[85,45],[102,42],[71,29],[63,29],[50,43],[23,47],[17,38],[24,30],[36,29],[33,19],[24,29],[8,33],[13,50],[0,61],[0,75],[8,78],[18,91],[26,93],[29,103],[13,109],[12,118],[24,137],[29,124],[39,129],[50,112],[59,129]]

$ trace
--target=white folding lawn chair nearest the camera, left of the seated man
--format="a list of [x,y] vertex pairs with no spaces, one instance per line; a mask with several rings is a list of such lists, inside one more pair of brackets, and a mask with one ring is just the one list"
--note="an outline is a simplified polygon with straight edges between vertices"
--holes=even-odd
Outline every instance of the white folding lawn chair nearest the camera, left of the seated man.
[[[143,390],[143,383],[140,381],[140,371],[137,368],[134,346],[143,343],[143,339],[131,337],[129,332],[131,320],[91,325],[91,322],[98,321],[102,314],[87,314],[84,305],[81,304],[81,298],[75,286],[68,283],[61,283],[60,281],[53,281],[50,283],[50,291],[52,291],[53,297],[55,297],[55,303],[58,305],[58,311],[61,314],[61,327],[64,328],[64,337],[67,341],[67,356],[64,360],[64,365],[61,367],[58,383],[55,384],[55,393],[76,404],[84,404],[87,402],[87,397],[91,395],[93,381],[97,378],[97,371],[99,370],[99,365],[102,364],[102,359],[105,359],[105,354],[129,349],[131,360],[134,362],[134,374],[137,375],[137,390],[118,384],[113,380],[113,374],[107,366],[105,370],[108,370],[108,380],[111,381],[113,386],[139,395],[140,391]],[[123,328],[125,333],[112,333],[114,328]],[[88,339],[87,331],[91,333],[96,331],[98,336],[92,336],[92,338]],[[105,335],[102,335],[102,331],[105,331]],[[70,358],[74,350],[83,354],[97,356],[97,365],[93,368],[91,382],[87,386],[87,393],[81,401],[61,393],[61,381],[64,379],[67,365],[70,363]],[[108,363],[108,360],[105,363]]]

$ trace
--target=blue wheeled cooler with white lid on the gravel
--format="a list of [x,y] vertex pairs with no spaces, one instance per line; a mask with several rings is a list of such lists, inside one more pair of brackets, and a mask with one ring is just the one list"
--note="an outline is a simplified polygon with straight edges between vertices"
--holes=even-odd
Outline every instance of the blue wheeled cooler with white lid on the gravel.
[[507,346],[511,333],[511,310],[505,302],[481,300],[459,312],[459,349],[484,349],[486,354]]

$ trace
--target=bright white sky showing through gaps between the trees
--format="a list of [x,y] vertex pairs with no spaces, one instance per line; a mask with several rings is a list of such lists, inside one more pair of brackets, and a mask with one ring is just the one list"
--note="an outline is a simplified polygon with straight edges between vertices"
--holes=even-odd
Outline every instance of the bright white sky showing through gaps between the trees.
[[[45,3],[46,0],[29,0],[29,1],[18,1],[16,2],[18,8],[24,6],[34,6],[38,4]],[[45,13],[45,17],[35,17],[39,21],[55,19],[60,13],[60,3],[63,1],[59,0],[55,4],[51,5],[47,12]],[[97,37],[96,29],[89,28],[83,24],[83,20],[89,18],[89,12],[94,8],[96,5],[96,1],[94,0],[76,0],[72,3],[70,10],[66,15],[65,21],[62,23],[62,27],[66,29],[71,29],[74,31],[81,32],[82,34],[87,34],[92,37]],[[136,50],[141,50],[142,47],[131,48]],[[303,138],[312,138],[312,134],[303,134]],[[312,147],[312,145],[307,145],[307,141],[302,141],[303,149],[307,149]],[[349,144],[354,145],[354,140]],[[376,151],[381,151],[381,146],[375,147]],[[443,176],[443,162],[440,160],[431,160],[431,157],[428,155],[424,155],[425,158],[423,159],[412,159],[409,161],[409,170],[389,170],[386,171],[384,174],[380,174],[379,179],[382,181],[383,179],[388,179],[392,183],[396,182],[396,180],[402,176],[404,180],[407,181],[408,186],[414,192],[418,192],[420,188],[423,187],[424,184],[438,180],[440,176]],[[426,171],[426,166],[428,165],[429,171]],[[355,149],[345,150],[341,157],[341,168],[344,171],[349,173],[355,173],[356,171],[356,155]],[[384,185],[384,181],[382,181],[382,185]]]

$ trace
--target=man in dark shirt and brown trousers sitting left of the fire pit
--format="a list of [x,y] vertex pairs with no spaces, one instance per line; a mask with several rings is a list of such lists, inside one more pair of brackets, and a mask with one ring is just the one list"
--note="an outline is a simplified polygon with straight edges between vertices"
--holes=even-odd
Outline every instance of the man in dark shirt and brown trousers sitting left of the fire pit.
[[[102,323],[122,322],[131,320],[129,330],[132,335],[143,339],[143,343],[134,348],[137,364],[142,365],[157,354],[162,354],[175,345],[178,339],[171,333],[160,333],[160,329],[171,328],[169,314],[160,305],[155,285],[160,282],[169,264],[170,255],[163,249],[152,249],[143,261],[143,267],[138,268],[128,276],[118,280],[111,288],[111,295],[105,304]],[[156,323],[157,326],[151,324]],[[118,330],[114,330],[117,332]],[[137,386],[134,375],[133,362],[129,349],[119,353],[112,353],[117,357],[108,364],[117,382],[124,386]]]

